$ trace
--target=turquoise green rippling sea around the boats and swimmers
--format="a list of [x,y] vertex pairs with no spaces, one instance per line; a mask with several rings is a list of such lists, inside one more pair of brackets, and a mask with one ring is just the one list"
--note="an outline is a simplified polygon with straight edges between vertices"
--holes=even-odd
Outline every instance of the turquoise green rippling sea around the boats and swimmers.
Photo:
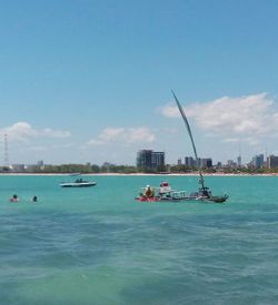
[[198,187],[197,176],[90,176],[88,189],[0,176],[0,304],[278,304],[278,177],[206,177],[226,204],[135,201],[166,179]]

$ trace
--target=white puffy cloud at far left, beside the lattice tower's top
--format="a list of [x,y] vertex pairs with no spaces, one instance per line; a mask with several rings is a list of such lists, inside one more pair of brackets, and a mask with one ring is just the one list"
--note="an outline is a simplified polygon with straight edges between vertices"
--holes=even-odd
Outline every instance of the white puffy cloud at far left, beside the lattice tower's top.
[[51,130],[46,128],[43,130],[36,130],[27,122],[18,122],[8,128],[0,129],[1,134],[8,134],[10,142],[28,143],[32,138],[69,138],[71,134],[68,131]]

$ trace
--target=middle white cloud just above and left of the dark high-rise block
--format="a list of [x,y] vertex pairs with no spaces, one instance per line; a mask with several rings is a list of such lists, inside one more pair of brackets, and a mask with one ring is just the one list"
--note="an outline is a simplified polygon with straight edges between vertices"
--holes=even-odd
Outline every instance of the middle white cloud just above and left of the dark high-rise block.
[[156,141],[155,133],[145,126],[141,128],[107,128],[97,136],[87,142],[87,145],[103,145],[109,143],[152,143]]

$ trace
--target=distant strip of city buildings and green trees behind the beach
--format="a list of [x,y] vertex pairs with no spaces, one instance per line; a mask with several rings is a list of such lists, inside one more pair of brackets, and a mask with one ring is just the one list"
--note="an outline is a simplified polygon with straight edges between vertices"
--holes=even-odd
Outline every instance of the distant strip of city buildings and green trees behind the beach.
[[[6,149],[7,151],[7,149]],[[198,157],[196,161],[192,156],[183,156],[177,160],[177,163],[167,163],[166,153],[161,151],[139,150],[136,155],[135,165],[117,165],[115,163],[105,162],[102,165],[87,162],[85,164],[44,164],[42,160],[36,164],[9,164],[7,153],[3,154],[3,162],[0,165],[1,173],[169,173],[169,172],[191,172],[197,167],[203,169],[206,172],[277,172],[278,156],[270,154],[257,154],[251,157],[248,163],[242,163],[241,156],[237,156],[237,161],[228,160],[225,163],[215,162],[212,157]]]

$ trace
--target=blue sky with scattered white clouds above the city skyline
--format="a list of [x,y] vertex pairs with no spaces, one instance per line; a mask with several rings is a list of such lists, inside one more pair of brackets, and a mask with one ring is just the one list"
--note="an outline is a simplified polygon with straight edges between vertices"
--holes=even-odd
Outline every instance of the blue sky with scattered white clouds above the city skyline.
[[278,154],[278,1],[0,0],[0,164]]

